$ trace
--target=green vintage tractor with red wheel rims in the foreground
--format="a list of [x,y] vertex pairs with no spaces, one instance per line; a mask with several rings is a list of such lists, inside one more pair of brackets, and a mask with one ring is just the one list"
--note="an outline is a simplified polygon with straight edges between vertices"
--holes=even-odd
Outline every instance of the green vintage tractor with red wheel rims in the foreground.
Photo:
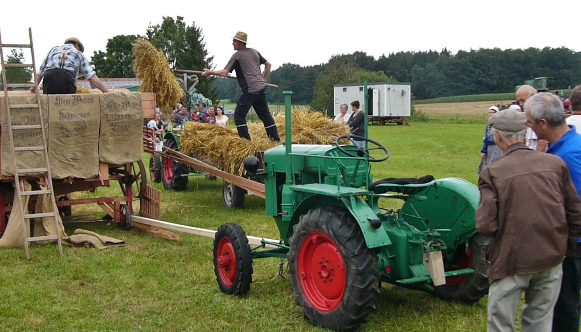
[[[264,180],[266,212],[282,240],[250,247],[238,224],[221,225],[214,239],[220,290],[245,294],[252,260],[288,258],[297,305],[311,323],[332,330],[364,323],[375,310],[381,282],[445,300],[480,300],[489,286],[489,238],[475,228],[478,188],[460,178],[431,176],[373,183],[371,163],[388,159],[389,152],[369,138],[291,144],[291,92],[284,94],[286,143],[264,152],[264,172],[253,175]],[[340,145],[345,138],[363,139],[365,147]],[[258,164],[252,156],[245,160],[249,173]],[[386,209],[385,199],[401,199],[403,206]]]

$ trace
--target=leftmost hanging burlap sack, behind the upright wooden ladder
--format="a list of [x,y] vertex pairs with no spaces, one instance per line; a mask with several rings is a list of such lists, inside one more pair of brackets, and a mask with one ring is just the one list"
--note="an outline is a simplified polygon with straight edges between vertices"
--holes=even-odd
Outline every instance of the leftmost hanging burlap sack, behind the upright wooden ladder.
[[[10,104],[33,104],[37,105],[35,94],[15,94],[9,96]],[[2,175],[14,175],[14,162],[10,154],[10,136],[8,132],[8,110],[4,104],[4,97],[0,97],[2,105]],[[41,110],[44,116],[45,133],[47,133],[48,121],[47,98],[41,94]],[[11,108],[10,120],[12,125],[38,125],[38,108]],[[42,145],[42,132],[40,129],[18,129],[13,130],[15,147],[40,147]],[[46,142],[45,142],[46,144]],[[18,151],[16,152],[18,168],[41,168],[45,167],[44,152],[42,151]],[[32,175],[32,174],[31,174]]]

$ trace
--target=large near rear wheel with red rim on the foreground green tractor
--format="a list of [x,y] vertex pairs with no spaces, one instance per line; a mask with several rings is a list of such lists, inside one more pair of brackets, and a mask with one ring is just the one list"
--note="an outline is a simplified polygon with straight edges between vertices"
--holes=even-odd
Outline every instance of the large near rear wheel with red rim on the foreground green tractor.
[[378,257],[348,211],[317,207],[301,216],[287,257],[296,304],[311,323],[357,329],[375,310]]

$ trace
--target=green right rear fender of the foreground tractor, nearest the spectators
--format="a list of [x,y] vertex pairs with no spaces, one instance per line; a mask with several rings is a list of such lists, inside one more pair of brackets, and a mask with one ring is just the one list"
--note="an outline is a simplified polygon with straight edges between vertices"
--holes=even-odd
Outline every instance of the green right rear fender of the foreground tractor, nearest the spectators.
[[407,200],[401,207],[404,221],[425,231],[423,223],[417,218],[424,218],[432,229],[450,229],[440,232],[440,239],[447,246],[456,247],[467,243],[477,233],[474,213],[480,200],[476,185],[461,178],[442,178],[428,191],[422,192],[425,200]]

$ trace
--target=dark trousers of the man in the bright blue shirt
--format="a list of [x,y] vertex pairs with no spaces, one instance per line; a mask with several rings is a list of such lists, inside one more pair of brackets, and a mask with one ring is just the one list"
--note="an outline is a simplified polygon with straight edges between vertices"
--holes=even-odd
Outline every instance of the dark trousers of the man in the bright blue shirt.
[[565,257],[561,293],[555,304],[553,332],[579,331],[579,291],[581,289],[581,246],[575,257]]

